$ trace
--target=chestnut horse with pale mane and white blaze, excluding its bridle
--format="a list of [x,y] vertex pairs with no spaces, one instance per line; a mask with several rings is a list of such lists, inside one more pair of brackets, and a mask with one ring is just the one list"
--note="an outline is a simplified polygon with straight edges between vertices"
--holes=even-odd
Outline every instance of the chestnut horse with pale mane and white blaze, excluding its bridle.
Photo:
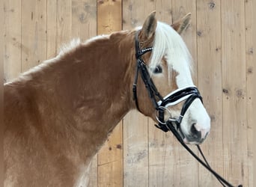
[[[144,80],[137,74],[134,83],[137,62],[162,96],[195,87],[191,55],[180,37],[189,20],[190,13],[167,25],[150,13],[131,31],[73,40],[55,58],[5,84],[4,186],[87,186],[92,157],[136,103],[162,123]],[[135,52],[135,38],[142,55]],[[162,107],[164,120],[179,117],[183,103]],[[193,100],[182,117],[183,141],[200,144],[210,131],[201,100]]]

